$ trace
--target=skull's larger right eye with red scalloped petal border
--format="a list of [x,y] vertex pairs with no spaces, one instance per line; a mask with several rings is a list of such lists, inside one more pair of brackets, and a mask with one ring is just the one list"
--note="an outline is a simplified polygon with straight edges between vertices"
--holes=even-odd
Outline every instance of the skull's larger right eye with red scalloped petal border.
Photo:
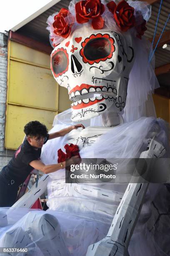
[[89,38],[85,38],[80,50],[82,61],[92,65],[106,59],[111,59],[115,51],[114,42],[114,39],[108,34],[102,35],[101,33],[97,35],[92,34]]

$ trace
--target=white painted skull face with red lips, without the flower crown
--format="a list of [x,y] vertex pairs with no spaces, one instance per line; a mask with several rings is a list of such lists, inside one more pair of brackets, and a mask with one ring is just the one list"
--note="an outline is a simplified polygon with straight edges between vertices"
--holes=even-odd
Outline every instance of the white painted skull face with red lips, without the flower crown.
[[133,59],[131,36],[86,26],[56,46],[51,54],[51,70],[73,101],[71,119],[93,118],[111,105],[115,112],[122,111]]

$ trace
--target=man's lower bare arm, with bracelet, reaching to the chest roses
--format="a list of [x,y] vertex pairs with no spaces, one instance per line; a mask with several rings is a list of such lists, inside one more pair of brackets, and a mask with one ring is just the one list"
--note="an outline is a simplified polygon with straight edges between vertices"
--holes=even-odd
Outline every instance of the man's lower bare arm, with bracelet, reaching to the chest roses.
[[45,165],[40,160],[33,160],[29,163],[30,166],[32,166],[34,169],[40,170],[41,172],[48,174],[51,172],[56,172],[62,168],[65,168],[66,166],[70,166],[71,164],[79,164],[80,158],[78,156],[72,156],[69,160],[67,160],[67,165],[65,164],[65,161],[58,164],[49,164]]

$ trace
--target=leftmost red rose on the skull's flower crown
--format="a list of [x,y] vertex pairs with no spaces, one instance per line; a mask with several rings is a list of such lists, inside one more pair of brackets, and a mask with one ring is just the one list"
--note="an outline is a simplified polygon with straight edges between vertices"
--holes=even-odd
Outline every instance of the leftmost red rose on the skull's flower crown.
[[52,26],[54,28],[54,33],[57,36],[62,36],[67,38],[71,32],[71,26],[68,25],[65,18],[68,16],[69,11],[65,8],[62,8],[60,12],[54,16],[54,22]]

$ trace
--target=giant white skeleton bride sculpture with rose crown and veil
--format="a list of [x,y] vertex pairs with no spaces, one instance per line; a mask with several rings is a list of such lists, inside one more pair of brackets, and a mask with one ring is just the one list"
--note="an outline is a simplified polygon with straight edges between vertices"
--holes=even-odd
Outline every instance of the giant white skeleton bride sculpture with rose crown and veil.
[[[50,132],[76,121],[84,122],[87,127],[48,141],[42,150],[42,161],[56,163],[57,149],[63,149],[66,143],[77,144],[82,158],[158,159],[165,156],[168,147],[164,122],[147,117],[150,106],[154,108],[150,93],[156,85],[152,65],[139,57],[141,54],[148,60],[146,41],[135,37],[133,26],[121,31],[109,10],[111,6],[115,7],[112,2],[103,5],[100,0],[95,0],[93,6],[88,0],[81,4],[86,2],[90,4],[89,8],[100,5],[104,27],[95,29],[94,24],[91,27],[88,24],[90,18],[80,23],[79,17],[76,23],[76,18],[73,19],[75,1],[70,3],[70,13],[65,9],[60,11],[64,13],[62,26],[72,22],[67,27],[67,36],[61,36],[61,26],[54,33],[54,20],[61,25],[61,17],[57,20],[57,15],[52,15],[48,23],[54,46],[52,73],[58,84],[67,88],[73,101],[71,110],[55,117]],[[76,12],[80,7],[80,2],[77,3]],[[122,3],[125,5],[124,1]],[[129,4],[135,8],[136,20],[141,19],[141,13],[148,19],[150,8],[145,3],[129,1]],[[101,11],[103,6],[105,11]],[[125,6],[127,8],[127,4]],[[143,81],[138,80],[141,76],[137,73],[144,75]],[[137,77],[134,81],[133,76]],[[141,88],[142,82],[144,86],[154,84],[150,88]],[[145,94],[146,97],[141,96]],[[147,172],[150,172],[150,164],[146,167]],[[46,212],[30,210],[46,187],[49,209]],[[159,200],[157,207],[153,203],[160,191],[162,196],[168,193],[165,186],[143,183],[140,176],[138,183],[129,184],[66,184],[63,169],[45,174],[37,188],[34,185],[10,209],[1,209],[0,246],[29,248],[27,255],[168,255],[167,244],[158,242],[157,237],[158,233],[164,232],[163,222],[169,220],[169,209],[163,212],[160,208],[159,211]],[[152,210],[151,205],[155,206]],[[161,211],[165,220],[160,218]]]

